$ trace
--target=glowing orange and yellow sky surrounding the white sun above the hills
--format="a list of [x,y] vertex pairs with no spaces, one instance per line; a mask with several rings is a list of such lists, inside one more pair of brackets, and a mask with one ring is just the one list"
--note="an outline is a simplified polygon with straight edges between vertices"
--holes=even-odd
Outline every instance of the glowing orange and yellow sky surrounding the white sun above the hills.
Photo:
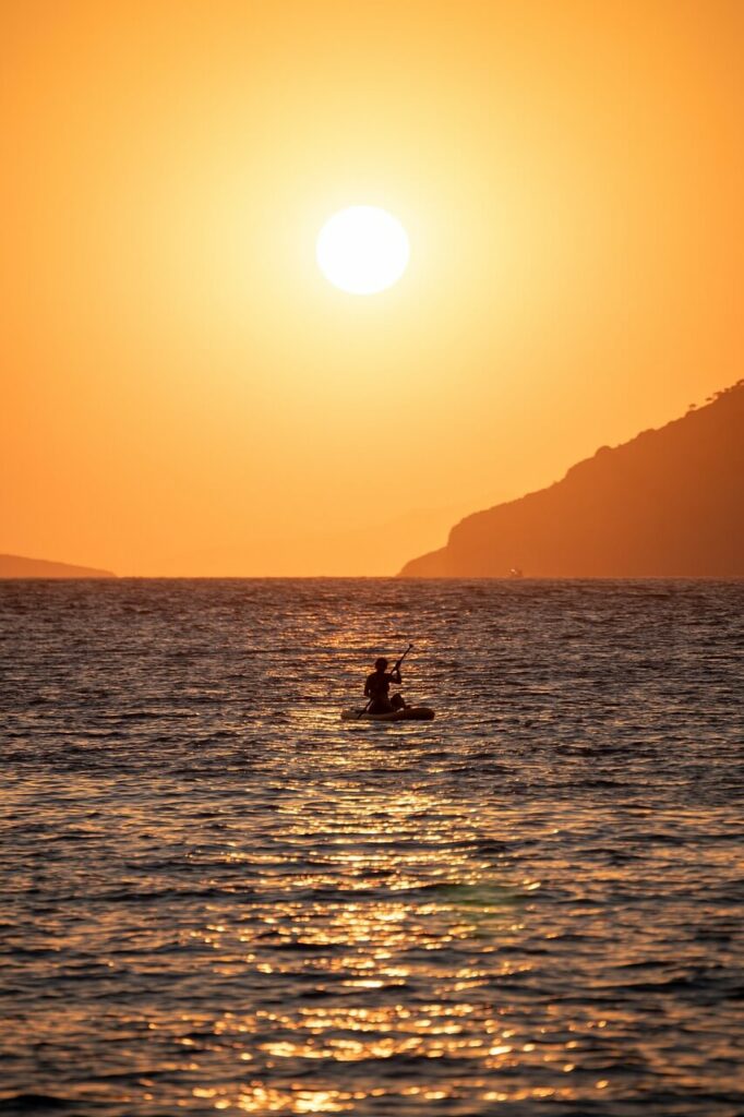
[[[742,375],[737,0],[0,20],[0,551],[394,573]],[[314,258],[356,203],[370,297]]]

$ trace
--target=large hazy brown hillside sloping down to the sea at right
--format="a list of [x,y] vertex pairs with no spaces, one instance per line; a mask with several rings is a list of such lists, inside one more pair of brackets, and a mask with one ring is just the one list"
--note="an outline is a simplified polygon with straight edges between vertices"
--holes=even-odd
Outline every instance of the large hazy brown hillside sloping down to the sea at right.
[[461,521],[406,577],[744,576],[744,381]]

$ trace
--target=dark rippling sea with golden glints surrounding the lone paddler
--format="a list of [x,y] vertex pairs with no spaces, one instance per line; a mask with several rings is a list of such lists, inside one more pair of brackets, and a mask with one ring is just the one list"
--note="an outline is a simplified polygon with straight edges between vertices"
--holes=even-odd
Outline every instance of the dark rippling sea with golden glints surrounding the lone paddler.
[[743,607],[0,583],[0,1111],[744,1111]]

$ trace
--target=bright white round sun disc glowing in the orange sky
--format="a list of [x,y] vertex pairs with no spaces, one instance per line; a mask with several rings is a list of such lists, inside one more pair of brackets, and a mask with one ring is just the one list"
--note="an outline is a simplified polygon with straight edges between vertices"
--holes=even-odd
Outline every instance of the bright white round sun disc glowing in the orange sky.
[[317,264],[335,287],[374,295],[398,283],[411,255],[400,221],[376,206],[350,206],[328,218],[315,246]]

